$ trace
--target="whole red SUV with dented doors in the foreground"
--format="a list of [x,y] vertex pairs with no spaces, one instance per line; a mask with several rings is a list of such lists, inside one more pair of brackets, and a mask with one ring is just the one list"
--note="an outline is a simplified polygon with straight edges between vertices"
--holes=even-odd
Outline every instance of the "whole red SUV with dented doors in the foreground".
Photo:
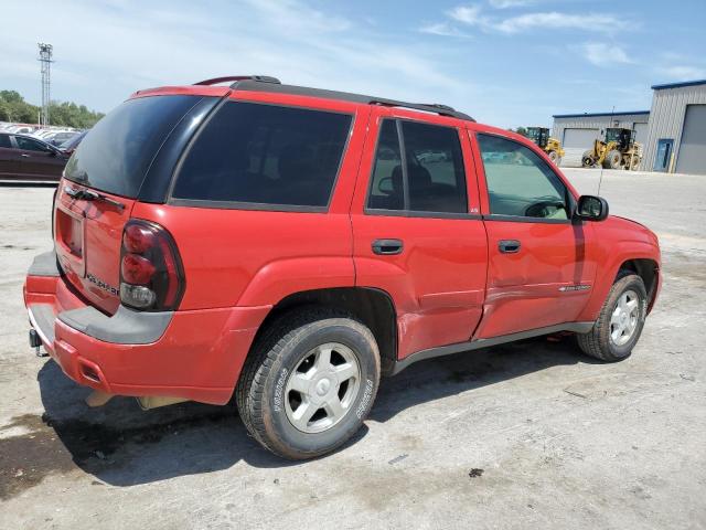
[[558,331],[624,359],[661,284],[656,236],[530,140],[264,76],[135,93],[68,161],[53,231],[30,342],[93,404],[235,394],[289,458],[344,443],[418,360]]

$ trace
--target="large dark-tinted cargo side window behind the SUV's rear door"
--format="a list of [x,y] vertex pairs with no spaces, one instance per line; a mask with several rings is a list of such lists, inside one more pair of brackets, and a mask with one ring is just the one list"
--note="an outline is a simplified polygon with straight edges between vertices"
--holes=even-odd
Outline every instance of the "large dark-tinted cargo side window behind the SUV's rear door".
[[351,119],[344,114],[231,102],[191,147],[173,197],[325,206]]

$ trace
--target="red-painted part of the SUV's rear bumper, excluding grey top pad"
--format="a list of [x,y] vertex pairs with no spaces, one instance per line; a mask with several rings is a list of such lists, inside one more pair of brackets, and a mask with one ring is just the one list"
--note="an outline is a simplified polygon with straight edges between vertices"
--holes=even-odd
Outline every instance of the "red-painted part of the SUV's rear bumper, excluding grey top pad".
[[[63,278],[28,276],[28,307],[51,305],[54,314],[85,307]],[[231,399],[245,357],[270,306],[176,311],[164,335],[148,344],[104,342],[56,319],[52,358],[79,384],[121,395],[174,395],[205,403]],[[99,380],[87,378],[89,365]]]

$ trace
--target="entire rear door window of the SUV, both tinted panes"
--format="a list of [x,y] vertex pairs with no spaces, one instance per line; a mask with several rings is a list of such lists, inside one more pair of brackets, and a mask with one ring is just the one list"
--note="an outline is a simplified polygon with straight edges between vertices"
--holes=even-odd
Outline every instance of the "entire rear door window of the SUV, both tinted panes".
[[[383,121],[371,178],[367,208],[416,212],[468,211],[466,173],[458,131],[450,127],[402,121],[405,163],[397,121]],[[408,204],[405,204],[405,186]]]

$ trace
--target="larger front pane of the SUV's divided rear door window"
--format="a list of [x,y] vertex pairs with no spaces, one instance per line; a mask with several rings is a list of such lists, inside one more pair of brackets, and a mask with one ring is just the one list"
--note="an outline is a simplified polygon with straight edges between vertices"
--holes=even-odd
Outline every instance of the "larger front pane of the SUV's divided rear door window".
[[409,210],[468,211],[459,134],[450,127],[403,121]]

